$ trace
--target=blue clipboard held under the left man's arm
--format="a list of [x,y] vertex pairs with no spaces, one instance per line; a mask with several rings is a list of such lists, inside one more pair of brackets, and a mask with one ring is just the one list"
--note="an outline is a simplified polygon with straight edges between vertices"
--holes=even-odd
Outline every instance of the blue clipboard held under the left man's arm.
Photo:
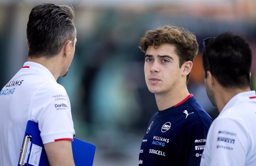
[[[76,166],[92,166],[95,150],[95,145],[73,138],[72,151]],[[50,166],[36,122],[27,122],[18,166]]]

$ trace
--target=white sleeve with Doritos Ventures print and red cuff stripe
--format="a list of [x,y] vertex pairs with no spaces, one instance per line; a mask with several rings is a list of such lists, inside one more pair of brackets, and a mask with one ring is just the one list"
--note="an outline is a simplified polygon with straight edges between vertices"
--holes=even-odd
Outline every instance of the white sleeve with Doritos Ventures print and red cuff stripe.
[[73,140],[70,101],[62,85],[48,83],[32,97],[30,119],[38,123],[43,144]]

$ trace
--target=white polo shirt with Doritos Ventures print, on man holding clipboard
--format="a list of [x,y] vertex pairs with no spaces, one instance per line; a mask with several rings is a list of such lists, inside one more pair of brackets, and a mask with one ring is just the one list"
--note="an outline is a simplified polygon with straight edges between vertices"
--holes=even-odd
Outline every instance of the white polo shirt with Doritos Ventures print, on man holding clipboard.
[[17,166],[28,120],[38,123],[44,144],[73,140],[66,90],[35,62],[25,62],[0,91],[0,166]]

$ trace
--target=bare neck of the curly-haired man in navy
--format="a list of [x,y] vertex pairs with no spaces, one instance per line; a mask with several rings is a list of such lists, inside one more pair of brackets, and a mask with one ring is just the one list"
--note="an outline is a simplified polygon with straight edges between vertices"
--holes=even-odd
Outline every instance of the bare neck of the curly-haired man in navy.
[[173,91],[155,94],[155,100],[159,111],[163,111],[183,101],[188,95],[189,92],[185,85],[183,88],[176,88]]

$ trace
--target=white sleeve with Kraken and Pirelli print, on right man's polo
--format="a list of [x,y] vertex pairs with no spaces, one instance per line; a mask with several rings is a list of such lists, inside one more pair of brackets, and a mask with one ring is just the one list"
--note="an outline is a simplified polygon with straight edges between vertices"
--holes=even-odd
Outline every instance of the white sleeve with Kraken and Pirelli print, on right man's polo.
[[210,147],[208,143],[206,147],[206,155],[210,157],[209,166],[245,165],[250,140],[247,139],[247,130],[243,126],[242,122],[234,119],[216,119],[210,133]]

